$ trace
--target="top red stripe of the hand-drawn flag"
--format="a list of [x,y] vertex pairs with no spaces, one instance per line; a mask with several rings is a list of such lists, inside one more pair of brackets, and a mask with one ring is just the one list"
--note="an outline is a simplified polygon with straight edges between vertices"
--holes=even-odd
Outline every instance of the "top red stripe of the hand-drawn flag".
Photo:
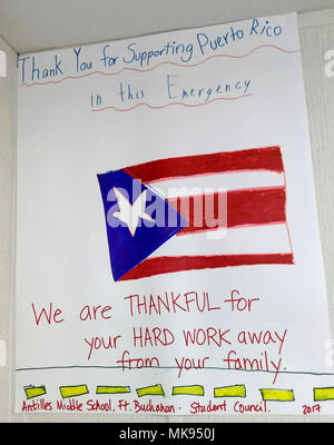
[[279,147],[158,159],[124,169],[128,175],[140,179],[143,182],[242,170],[283,172],[284,167]]

